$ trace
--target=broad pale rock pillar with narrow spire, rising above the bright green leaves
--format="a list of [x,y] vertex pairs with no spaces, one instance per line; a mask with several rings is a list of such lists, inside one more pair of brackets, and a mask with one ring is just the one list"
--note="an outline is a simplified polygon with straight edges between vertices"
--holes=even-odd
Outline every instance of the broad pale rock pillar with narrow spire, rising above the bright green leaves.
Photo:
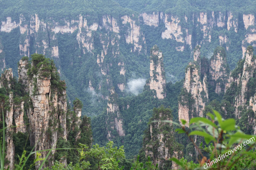
[[208,100],[207,76],[201,80],[200,47],[194,49],[194,61],[186,68],[183,90],[179,96],[179,121],[187,121],[193,117],[202,117],[205,103]]

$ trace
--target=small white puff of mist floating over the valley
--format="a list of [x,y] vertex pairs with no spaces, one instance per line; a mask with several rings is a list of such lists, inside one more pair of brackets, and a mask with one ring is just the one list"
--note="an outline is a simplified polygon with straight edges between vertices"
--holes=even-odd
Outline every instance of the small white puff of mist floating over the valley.
[[145,84],[146,79],[144,78],[132,79],[127,83],[127,91],[137,96],[140,92],[142,92]]

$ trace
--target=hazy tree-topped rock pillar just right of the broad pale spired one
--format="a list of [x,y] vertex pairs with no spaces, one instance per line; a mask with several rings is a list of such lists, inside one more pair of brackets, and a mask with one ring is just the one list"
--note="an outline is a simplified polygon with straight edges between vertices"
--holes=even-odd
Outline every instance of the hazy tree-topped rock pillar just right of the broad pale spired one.
[[215,87],[215,93],[224,92],[229,75],[229,68],[226,61],[226,51],[223,47],[217,47],[210,59],[210,83]]

